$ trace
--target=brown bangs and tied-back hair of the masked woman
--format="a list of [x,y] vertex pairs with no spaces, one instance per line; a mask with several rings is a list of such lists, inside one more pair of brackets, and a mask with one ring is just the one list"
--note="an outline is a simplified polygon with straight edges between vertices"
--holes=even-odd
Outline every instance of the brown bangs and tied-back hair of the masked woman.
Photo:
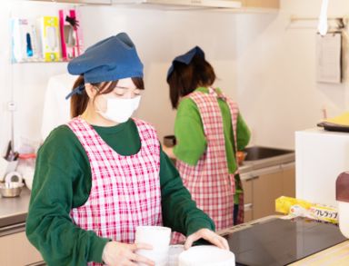
[[[135,86],[140,89],[145,89],[145,84],[143,82],[143,78],[141,77],[133,77],[132,81],[134,82]],[[96,83],[93,84],[94,86],[98,87],[99,90],[97,94],[95,94],[95,97],[100,94],[109,94],[111,93],[118,83],[118,80],[115,80],[111,83]],[[79,75],[79,77],[75,80],[75,84],[73,86],[73,90],[78,87],[81,84],[85,84],[84,75]],[[85,109],[87,107],[87,103],[90,101],[90,98],[88,97],[85,90],[83,90],[82,94],[74,94],[70,100],[70,115],[72,118],[82,114],[85,112]],[[94,99],[95,101],[95,99]]]

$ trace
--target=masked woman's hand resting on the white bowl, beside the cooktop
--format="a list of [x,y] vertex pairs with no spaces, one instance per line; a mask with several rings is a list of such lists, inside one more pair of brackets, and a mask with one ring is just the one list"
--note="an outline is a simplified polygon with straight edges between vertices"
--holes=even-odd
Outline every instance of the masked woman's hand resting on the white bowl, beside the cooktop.
[[226,241],[226,239],[221,237],[219,234],[216,234],[215,232],[208,230],[206,228],[200,229],[199,231],[194,232],[191,235],[189,235],[186,238],[186,241],[184,243],[184,250],[189,249],[193,245],[194,241],[197,241],[201,238],[213,243],[218,248],[229,251],[228,241]]

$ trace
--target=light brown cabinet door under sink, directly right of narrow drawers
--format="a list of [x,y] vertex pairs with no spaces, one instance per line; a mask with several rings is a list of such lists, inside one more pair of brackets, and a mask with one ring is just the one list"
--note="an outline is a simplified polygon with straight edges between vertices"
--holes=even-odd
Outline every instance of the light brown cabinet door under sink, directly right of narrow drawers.
[[261,174],[254,179],[254,219],[275,214],[275,199],[283,195],[282,170],[279,166],[273,166],[269,169],[269,172],[271,173]]

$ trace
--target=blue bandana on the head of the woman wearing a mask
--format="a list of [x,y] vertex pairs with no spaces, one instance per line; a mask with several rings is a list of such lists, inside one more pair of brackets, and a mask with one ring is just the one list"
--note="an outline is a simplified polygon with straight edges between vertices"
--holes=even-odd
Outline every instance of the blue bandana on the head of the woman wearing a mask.
[[[125,34],[117,34],[86,49],[84,54],[68,64],[69,74],[83,74],[85,83],[111,82],[128,77],[143,77],[143,64],[135,44]],[[73,94],[82,94],[85,87],[77,87]]]

